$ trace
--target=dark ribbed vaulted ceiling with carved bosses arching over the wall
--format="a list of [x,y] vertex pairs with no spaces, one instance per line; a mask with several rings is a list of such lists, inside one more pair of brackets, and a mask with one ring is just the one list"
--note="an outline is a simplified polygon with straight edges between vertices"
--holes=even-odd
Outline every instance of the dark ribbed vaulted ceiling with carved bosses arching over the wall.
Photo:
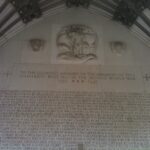
[[71,7],[122,23],[150,47],[150,0],[0,0],[0,45],[36,19]]

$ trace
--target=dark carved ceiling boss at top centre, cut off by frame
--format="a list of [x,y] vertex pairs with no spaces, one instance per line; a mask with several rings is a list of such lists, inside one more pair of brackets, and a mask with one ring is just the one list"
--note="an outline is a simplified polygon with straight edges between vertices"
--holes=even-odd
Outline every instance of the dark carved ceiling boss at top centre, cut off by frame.
[[88,7],[90,5],[91,0],[66,0],[67,7]]

